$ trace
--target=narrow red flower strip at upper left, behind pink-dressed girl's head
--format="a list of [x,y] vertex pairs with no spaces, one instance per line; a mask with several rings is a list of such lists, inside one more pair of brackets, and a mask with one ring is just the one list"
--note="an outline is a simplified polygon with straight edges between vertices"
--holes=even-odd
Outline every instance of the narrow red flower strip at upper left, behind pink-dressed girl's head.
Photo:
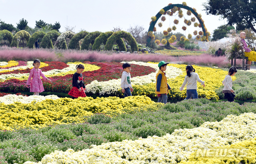
[[[68,65],[64,62],[45,62],[46,64],[48,64],[48,66],[44,66],[42,68],[40,68],[42,70],[42,72],[46,72],[48,70],[53,70],[53,69],[59,69],[59,70],[62,70],[66,67],[68,67]],[[32,67],[32,66],[31,66]],[[30,68],[27,68],[27,69],[24,69],[24,70],[13,70],[13,71],[10,71],[10,72],[2,72],[0,73],[1,74],[18,74],[18,73],[21,73],[21,74],[24,74],[24,73],[30,73]]]

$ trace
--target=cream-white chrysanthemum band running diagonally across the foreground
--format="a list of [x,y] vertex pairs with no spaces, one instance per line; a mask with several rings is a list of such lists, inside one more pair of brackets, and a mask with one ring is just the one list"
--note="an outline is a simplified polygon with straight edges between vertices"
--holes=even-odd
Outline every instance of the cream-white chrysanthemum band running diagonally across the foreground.
[[[214,127],[214,130],[209,129]],[[91,149],[74,152],[55,150],[42,158],[38,164],[176,164],[187,161],[198,149],[216,148],[256,137],[256,114],[228,115],[220,122],[206,122],[194,129],[176,129],[163,137],[139,138],[135,141],[92,145]],[[25,162],[24,164],[36,164]]]

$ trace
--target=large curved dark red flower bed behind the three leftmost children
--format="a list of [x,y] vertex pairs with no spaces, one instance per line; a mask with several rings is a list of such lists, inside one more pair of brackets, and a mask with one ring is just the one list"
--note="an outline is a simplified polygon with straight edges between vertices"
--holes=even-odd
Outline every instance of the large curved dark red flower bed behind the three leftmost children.
[[[98,70],[83,72],[84,84],[90,84],[92,81],[98,82],[108,81],[112,79],[118,79],[122,77],[122,63],[119,62],[84,62],[86,64],[93,64],[101,67]],[[49,64],[50,66],[50,64]],[[150,66],[140,66],[131,64],[132,72],[131,77],[144,76],[156,70]],[[44,90],[48,92],[65,92],[68,93],[72,88],[72,76],[68,74],[65,76],[53,76],[50,79],[52,83],[49,83],[42,79]],[[5,92],[29,92],[29,88],[25,87],[27,80],[11,79],[5,82],[0,82],[0,91]],[[10,91],[9,91],[10,90]]]

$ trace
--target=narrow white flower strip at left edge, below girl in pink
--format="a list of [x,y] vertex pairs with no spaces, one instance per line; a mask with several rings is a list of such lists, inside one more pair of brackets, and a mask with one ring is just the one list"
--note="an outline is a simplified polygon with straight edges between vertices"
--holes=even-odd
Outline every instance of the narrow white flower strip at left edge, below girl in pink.
[[5,103],[5,104],[11,104],[14,102],[21,102],[21,103],[31,103],[33,101],[36,102],[42,102],[43,100],[46,99],[52,99],[52,100],[56,100],[59,99],[58,96],[56,95],[48,95],[48,96],[22,96],[19,95],[17,96],[16,94],[8,94],[6,96],[0,97],[0,103]]

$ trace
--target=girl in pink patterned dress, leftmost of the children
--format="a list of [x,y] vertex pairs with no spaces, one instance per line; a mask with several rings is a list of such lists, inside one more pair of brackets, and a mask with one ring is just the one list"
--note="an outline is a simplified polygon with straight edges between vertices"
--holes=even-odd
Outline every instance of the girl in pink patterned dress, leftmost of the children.
[[34,95],[38,95],[38,96],[40,92],[44,92],[44,86],[40,77],[42,76],[42,78],[48,80],[49,82],[52,82],[52,80],[44,76],[44,74],[42,73],[42,70],[39,69],[40,63],[41,63],[40,60],[38,59],[34,60],[33,62],[34,68],[30,70],[28,81],[26,83],[26,87],[30,86],[30,92],[34,92]]

